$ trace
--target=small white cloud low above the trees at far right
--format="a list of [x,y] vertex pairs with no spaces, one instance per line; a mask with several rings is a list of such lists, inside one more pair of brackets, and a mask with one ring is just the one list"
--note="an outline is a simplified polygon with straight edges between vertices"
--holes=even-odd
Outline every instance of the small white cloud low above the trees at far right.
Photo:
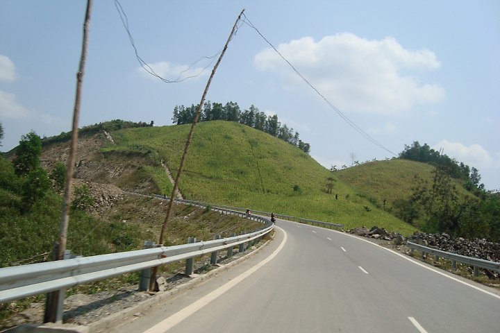
[[469,167],[481,169],[492,167],[494,164],[490,153],[479,144],[465,146],[465,144],[461,144],[460,142],[442,140],[433,146],[435,151],[439,151],[440,148],[444,149],[444,154],[455,158],[458,162],[464,162]]

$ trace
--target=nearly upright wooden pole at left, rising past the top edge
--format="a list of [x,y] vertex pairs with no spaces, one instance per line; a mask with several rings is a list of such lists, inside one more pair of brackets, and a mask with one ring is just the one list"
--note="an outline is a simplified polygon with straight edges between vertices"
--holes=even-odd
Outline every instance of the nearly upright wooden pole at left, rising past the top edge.
[[[76,96],[73,110],[72,141],[69,148],[69,156],[66,162],[65,194],[63,199],[63,209],[61,212],[61,224],[59,230],[59,244],[54,248],[54,259],[61,260],[64,257],[67,243],[67,228],[69,224],[69,204],[71,203],[73,167],[76,155],[76,145],[78,143],[78,118],[80,117],[81,89],[83,83],[83,71],[87,58],[88,31],[90,26],[90,12],[92,11],[92,0],[87,0],[87,10],[85,11],[85,22],[83,23],[83,42],[80,56],[80,65],[76,73]],[[64,290],[64,289],[63,289]],[[55,323],[62,320],[62,314],[58,305],[63,304],[65,295],[61,291],[53,291],[47,294],[44,323]]]

